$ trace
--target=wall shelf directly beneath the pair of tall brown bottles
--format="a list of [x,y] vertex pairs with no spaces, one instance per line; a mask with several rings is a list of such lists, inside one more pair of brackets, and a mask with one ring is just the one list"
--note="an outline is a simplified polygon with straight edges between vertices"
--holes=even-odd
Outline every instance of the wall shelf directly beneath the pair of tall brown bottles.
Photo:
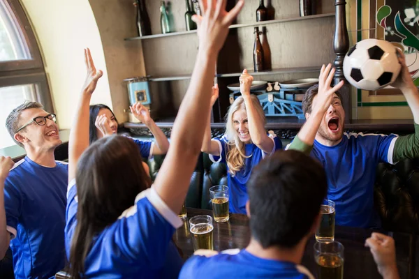
[[[282,73],[310,73],[310,72],[319,72],[321,66],[314,67],[297,67],[297,68],[277,68],[272,70],[264,70],[261,72],[249,72],[250,75],[275,75]],[[242,73],[225,73],[225,74],[216,74],[216,77],[240,77]],[[167,82],[171,80],[189,80],[191,75],[172,75],[167,77],[149,77],[151,82]]]

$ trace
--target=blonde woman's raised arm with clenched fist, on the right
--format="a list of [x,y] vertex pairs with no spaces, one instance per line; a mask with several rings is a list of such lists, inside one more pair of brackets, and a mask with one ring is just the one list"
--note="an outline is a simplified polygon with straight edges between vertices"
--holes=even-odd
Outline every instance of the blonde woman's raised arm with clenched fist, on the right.
[[271,153],[272,149],[274,149],[274,142],[267,136],[265,123],[263,123],[263,119],[256,111],[250,98],[250,87],[251,82],[253,82],[253,77],[245,69],[242,75],[240,75],[239,80],[240,93],[242,93],[244,105],[246,105],[247,123],[249,124],[251,141],[262,149],[263,152]]

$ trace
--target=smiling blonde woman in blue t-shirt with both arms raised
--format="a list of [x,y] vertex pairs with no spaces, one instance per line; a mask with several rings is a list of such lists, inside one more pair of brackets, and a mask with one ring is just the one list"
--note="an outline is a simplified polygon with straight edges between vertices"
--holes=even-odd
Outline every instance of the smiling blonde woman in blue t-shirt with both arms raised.
[[[256,96],[251,95],[253,77],[244,70],[240,76],[240,93],[230,106],[226,119],[226,133],[221,138],[211,139],[210,121],[201,151],[210,154],[214,163],[223,162],[228,169],[229,208],[232,213],[246,214],[246,184],[251,170],[265,156],[282,148],[279,137],[265,130],[265,113]],[[211,102],[218,97],[218,86],[212,89]]]

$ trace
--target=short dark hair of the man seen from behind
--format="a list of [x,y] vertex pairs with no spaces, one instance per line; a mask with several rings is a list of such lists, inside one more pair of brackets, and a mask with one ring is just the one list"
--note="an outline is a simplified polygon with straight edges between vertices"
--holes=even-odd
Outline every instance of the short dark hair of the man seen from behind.
[[314,224],[327,188],[321,164],[300,151],[263,159],[247,183],[252,237],[263,248],[293,248]]

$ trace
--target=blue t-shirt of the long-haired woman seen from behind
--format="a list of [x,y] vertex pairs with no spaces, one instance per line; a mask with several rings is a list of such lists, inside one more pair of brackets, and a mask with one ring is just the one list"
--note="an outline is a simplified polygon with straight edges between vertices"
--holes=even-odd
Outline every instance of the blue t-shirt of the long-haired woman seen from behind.
[[[66,209],[66,252],[77,225],[75,180],[68,186]],[[172,235],[182,220],[154,188],[138,194],[135,204],[115,223],[94,237],[84,262],[87,278],[177,278],[183,260],[172,243]]]

